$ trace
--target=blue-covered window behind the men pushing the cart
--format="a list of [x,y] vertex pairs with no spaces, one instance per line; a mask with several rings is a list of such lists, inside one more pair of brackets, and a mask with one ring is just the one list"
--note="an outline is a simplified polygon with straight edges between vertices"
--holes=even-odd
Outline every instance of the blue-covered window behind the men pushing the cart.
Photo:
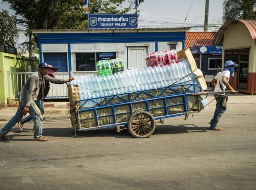
[[68,71],[67,53],[44,53],[44,62],[58,67],[58,72]]

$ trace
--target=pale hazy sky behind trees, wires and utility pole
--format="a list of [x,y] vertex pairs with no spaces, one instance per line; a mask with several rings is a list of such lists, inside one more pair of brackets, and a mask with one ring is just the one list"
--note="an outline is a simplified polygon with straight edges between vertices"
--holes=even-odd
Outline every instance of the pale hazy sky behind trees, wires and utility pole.
[[[134,2],[134,0],[130,1]],[[223,2],[224,0],[209,0],[209,25],[221,26]],[[128,0],[122,4],[124,7],[128,5]],[[0,11],[2,9],[9,10],[10,14],[15,14],[13,10],[10,10],[10,4],[0,0]],[[144,3],[139,6],[139,10],[138,24],[140,28],[198,26],[190,30],[203,31],[205,0],[144,0]],[[209,30],[214,31],[218,28],[209,27]],[[19,42],[25,40],[26,36],[21,33]]]

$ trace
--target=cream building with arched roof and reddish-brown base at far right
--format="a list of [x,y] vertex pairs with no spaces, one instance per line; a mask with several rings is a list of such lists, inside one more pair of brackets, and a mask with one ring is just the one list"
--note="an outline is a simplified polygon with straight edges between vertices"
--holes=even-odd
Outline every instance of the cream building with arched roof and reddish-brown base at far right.
[[256,20],[229,20],[218,30],[214,44],[222,44],[222,68],[232,60],[235,69],[230,83],[240,92],[256,94]]

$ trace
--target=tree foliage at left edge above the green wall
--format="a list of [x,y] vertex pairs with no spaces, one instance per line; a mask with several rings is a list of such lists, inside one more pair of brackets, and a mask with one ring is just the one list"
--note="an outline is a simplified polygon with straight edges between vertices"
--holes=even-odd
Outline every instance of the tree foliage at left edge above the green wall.
[[0,44],[15,47],[18,37],[16,16],[10,16],[7,10],[3,10],[3,12],[0,12]]

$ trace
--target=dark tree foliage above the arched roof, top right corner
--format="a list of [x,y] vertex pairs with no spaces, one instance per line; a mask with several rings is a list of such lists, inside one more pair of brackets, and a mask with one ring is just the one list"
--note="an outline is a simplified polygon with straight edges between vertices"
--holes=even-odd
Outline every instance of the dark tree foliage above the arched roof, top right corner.
[[256,19],[256,0],[225,0],[222,19]]

